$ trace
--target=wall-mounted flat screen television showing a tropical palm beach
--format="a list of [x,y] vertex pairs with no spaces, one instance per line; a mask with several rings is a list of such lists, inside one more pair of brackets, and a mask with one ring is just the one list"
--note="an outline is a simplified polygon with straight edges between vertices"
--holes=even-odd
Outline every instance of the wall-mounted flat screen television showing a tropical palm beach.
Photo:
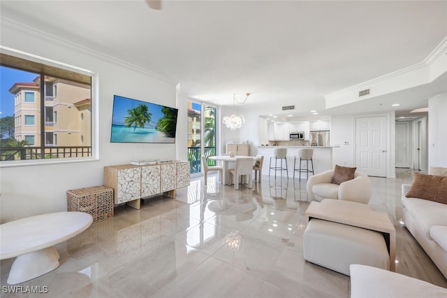
[[175,143],[177,108],[113,96],[111,143]]

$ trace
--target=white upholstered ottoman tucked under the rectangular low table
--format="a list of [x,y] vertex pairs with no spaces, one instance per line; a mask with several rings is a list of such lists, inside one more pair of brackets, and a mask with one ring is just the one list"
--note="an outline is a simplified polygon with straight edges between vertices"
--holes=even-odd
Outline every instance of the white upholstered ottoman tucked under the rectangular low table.
[[379,232],[312,218],[304,234],[305,260],[349,276],[349,265],[388,270],[390,255]]

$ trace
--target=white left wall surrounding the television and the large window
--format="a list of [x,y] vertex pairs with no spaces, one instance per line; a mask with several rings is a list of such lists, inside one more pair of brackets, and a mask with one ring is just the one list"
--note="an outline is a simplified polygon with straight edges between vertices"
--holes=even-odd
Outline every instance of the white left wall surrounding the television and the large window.
[[[2,168],[0,222],[66,211],[66,191],[102,185],[103,166],[127,164],[131,159],[176,158],[175,144],[110,143],[114,94],[175,107],[174,82],[157,77],[138,66],[119,62],[4,19],[1,19],[0,44],[88,69],[99,76],[99,160]],[[179,115],[186,115],[184,106],[181,108]],[[185,126],[177,127],[181,131]],[[186,147],[186,141],[184,144]],[[184,155],[182,153],[179,156]]]

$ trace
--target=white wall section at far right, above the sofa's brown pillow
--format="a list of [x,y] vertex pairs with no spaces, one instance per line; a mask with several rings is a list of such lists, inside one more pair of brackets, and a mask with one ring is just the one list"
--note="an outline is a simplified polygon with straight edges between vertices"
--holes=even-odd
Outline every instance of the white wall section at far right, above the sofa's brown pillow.
[[447,167],[447,93],[428,100],[428,166]]

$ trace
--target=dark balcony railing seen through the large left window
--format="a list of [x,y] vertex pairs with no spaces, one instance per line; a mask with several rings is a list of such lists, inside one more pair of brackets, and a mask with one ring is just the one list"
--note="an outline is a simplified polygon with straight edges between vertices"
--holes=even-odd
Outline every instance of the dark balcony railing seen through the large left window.
[[89,157],[91,147],[87,146],[45,146],[41,147],[1,147],[0,160],[24,160],[67,157]]

